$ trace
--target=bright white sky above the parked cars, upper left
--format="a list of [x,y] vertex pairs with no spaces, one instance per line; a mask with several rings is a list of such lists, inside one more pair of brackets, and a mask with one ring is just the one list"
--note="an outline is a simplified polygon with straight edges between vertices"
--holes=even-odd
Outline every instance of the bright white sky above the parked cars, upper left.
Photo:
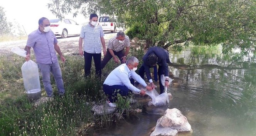
[[[56,18],[47,7],[47,3],[50,2],[51,0],[0,0],[0,6],[5,11],[7,21],[18,22],[21,28],[23,29],[24,27],[25,32],[29,35],[29,33],[38,28],[39,18]],[[85,18],[81,14],[76,18],[73,18],[72,14],[64,16],[79,24],[89,22],[89,18]]]

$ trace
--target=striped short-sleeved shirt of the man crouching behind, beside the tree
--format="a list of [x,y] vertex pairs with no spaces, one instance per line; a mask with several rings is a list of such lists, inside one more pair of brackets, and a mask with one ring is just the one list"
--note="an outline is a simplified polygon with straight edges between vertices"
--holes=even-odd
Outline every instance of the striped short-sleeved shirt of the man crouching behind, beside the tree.
[[116,36],[114,36],[108,41],[108,48],[116,52],[121,51],[125,47],[129,47],[129,46],[130,46],[130,39],[127,35],[125,35],[125,40],[123,43],[119,43],[118,40],[116,39]]

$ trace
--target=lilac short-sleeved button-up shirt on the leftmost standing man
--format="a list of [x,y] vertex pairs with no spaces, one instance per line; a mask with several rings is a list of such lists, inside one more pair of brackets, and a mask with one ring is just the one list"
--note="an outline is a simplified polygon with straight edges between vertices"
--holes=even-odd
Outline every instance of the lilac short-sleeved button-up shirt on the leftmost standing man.
[[52,31],[42,33],[39,29],[29,34],[27,46],[32,47],[38,63],[52,64],[58,61],[54,43],[57,38]]

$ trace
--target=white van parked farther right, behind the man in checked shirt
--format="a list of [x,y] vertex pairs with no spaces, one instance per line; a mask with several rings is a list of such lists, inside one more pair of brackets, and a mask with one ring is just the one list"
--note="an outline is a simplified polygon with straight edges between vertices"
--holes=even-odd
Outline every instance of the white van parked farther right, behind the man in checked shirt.
[[110,31],[116,33],[116,31],[125,30],[124,27],[117,27],[115,18],[112,21],[109,16],[99,17],[99,25],[101,25],[103,31]]

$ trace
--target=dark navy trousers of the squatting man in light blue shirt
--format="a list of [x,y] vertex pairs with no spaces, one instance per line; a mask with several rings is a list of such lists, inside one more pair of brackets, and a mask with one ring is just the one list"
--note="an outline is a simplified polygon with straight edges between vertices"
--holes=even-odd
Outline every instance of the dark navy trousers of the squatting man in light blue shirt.
[[[134,85],[134,79],[130,79],[131,84]],[[119,93],[121,96],[128,96],[129,89],[126,86],[121,85],[103,85],[103,91],[106,95],[108,95],[108,100],[111,103],[115,103],[117,99],[117,93]]]

